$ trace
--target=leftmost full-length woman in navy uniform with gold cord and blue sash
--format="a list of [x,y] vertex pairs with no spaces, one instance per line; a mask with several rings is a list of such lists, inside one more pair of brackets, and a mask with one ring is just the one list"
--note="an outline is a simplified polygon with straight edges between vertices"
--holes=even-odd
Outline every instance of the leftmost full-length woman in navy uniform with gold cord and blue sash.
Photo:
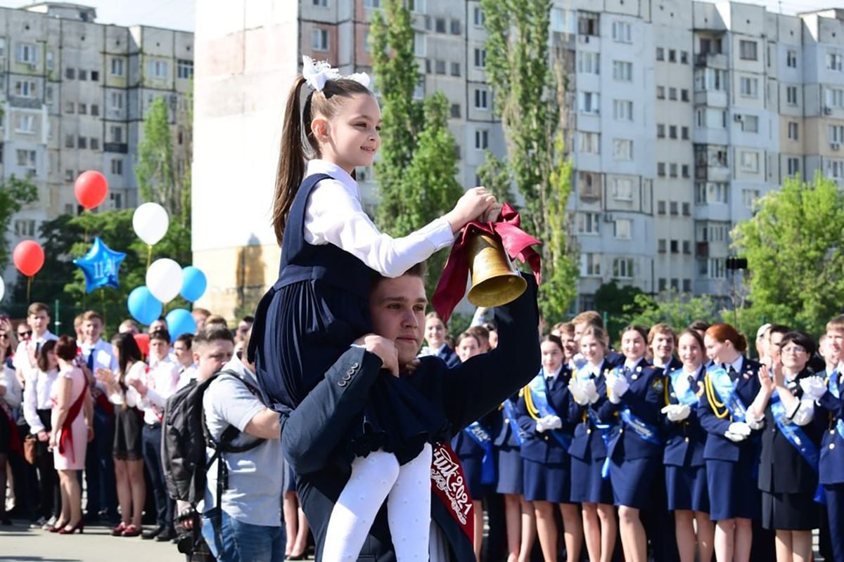
[[571,371],[563,365],[563,344],[546,335],[540,345],[542,370],[525,387],[518,404],[525,500],[533,502],[539,545],[545,562],[557,559],[555,505],[563,517],[568,562],[580,559],[583,529],[577,505],[571,502],[571,458],[568,448],[575,424],[569,421],[568,384]]

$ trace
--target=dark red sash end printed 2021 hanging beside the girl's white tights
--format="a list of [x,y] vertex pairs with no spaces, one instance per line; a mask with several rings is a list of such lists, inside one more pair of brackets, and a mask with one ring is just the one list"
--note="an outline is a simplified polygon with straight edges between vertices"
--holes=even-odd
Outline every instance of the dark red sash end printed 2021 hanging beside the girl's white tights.
[[434,447],[434,458],[430,463],[430,487],[460,525],[463,533],[469,538],[469,542],[473,543],[472,498],[469,496],[463,465],[460,464],[460,459],[447,442]]

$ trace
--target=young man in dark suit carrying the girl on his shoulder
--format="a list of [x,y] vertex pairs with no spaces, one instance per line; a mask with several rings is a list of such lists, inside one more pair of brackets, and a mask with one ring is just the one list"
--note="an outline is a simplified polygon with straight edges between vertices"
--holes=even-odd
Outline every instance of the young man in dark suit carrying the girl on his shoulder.
[[[317,541],[317,560],[321,559],[323,545],[330,540],[326,537],[328,519],[349,479],[349,465],[338,454],[342,448],[338,446],[343,445],[349,424],[360,415],[372,382],[376,377],[392,376],[383,369],[398,363],[400,376],[406,377],[425,397],[429,402],[426,407],[446,420],[449,433],[453,436],[463,430],[497,408],[538,371],[536,285],[533,277],[528,277],[527,282],[522,297],[495,311],[500,345],[490,353],[449,368],[436,356],[416,360],[425,328],[424,268],[414,266],[403,276],[373,281],[370,312],[376,333],[357,340],[284,420],[284,455],[296,474],[300,500]],[[432,468],[442,475],[440,483],[444,479],[449,486],[465,485],[454,478],[457,457],[453,452],[450,456],[445,447],[435,449]],[[434,481],[436,484],[436,477]],[[430,517],[434,523],[431,560],[473,561],[472,517],[468,511],[471,501],[465,506],[461,495],[432,493],[435,497],[430,514],[415,514],[414,507],[408,506],[408,513]],[[372,523],[360,554],[349,554],[383,562],[395,559],[385,506],[381,506]]]

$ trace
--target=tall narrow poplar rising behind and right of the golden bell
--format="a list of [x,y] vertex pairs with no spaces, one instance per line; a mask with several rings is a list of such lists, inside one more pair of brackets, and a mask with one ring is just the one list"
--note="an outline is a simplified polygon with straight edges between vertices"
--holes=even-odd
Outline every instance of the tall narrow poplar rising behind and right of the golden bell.
[[[571,162],[560,122],[565,72],[549,63],[550,0],[480,0],[487,30],[485,70],[507,145],[507,166],[524,200],[524,226],[543,240],[540,307],[560,318],[576,295],[576,251],[565,206]],[[565,115],[563,116],[565,118]]]

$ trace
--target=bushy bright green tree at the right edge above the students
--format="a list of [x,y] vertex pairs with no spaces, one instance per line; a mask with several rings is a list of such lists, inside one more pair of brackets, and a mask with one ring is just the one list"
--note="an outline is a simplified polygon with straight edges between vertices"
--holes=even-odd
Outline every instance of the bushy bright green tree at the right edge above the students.
[[755,216],[733,229],[748,260],[750,308],[768,322],[818,334],[844,302],[844,194],[820,174],[786,179],[761,198]]

